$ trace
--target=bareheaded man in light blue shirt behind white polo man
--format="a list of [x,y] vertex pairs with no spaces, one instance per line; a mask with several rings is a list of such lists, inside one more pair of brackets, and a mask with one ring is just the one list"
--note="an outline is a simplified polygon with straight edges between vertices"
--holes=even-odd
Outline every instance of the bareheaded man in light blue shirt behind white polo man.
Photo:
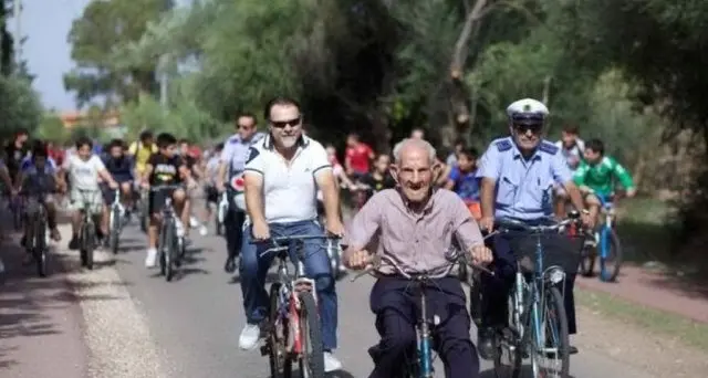
[[[217,189],[220,193],[227,190],[223,178],[227,177],[229,182],[231,178],[237,175],[243,174],[243,167],[246,166],[246,160],[248,159],[248,151],[251,145],[256,141],[260,140],[264,134],[257,132],[257,119],[256,115],[250,113],[242,113],[237,118],[237,133],[231,136],[223,144],[223,150],[221,151],[221,157],[219,161],[219,170],[217,175]],[[246,220],[246,212],[243,209],[239,209],[233,199],[235,192],[232,188],[229,187],[229,211],[227,213],[226,219],[223,220],[223,224],[226,227],[226,245],[228,255],[226,259],[226,263],[223,264],[223,270],[227,273],[233,273],[236,271],[236,258],[241,249],[242,241],[242,229],[243,221]]]

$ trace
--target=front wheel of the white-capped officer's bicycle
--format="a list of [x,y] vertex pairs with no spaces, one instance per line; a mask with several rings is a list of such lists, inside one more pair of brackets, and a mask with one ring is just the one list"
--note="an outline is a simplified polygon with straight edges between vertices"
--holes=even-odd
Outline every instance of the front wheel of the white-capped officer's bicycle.
[[[546,286],[539,312],[541,334],[533,333],[531,361],[535,377],[568,378],[570,340],[563,296],[558,287]],[[533,327],[537,329],[537,327]]]

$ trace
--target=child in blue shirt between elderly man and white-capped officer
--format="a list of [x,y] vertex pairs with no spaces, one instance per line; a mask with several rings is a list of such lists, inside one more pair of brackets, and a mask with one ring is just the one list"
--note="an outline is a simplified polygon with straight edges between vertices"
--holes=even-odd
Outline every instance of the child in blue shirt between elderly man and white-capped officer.
[[479,179],[477,175],[477,150],[462,148],[457,154],[457,165],[448,175],[445,188],[456,192],[476,220],[481,218],[479,206]]

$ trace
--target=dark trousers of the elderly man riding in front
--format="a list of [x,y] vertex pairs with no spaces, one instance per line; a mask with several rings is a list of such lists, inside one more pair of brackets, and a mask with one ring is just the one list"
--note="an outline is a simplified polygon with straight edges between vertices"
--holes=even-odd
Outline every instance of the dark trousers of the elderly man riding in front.
[[[479,357],[469,336],[470,317],[462,285],[457,277],[435,280],[426,287],[433,348],[445,364],[448,378],[479,377]],[[420,316],[417,287],[408,280],[383,276],[372,288],[381,342],[368,349],[374,360],[369,378],[403,377],[405,364],[416,361],[416,328]],[[434,315],[439,324],[434,325]]]

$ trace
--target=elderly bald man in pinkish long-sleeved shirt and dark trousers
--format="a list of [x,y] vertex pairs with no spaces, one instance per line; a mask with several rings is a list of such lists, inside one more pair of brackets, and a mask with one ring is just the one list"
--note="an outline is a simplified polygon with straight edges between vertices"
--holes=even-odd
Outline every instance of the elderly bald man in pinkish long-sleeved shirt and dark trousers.
[[[396,189],[374,195],[354,217],[345,244],[344,261],[352,269],[372,262],[374,252],[395,260],[405,273],[436,270],[448,263],[447,252],[461,245],[475,263],[491,262],[491,251],[462,200],[446,189],[433,189],[440,167],[435,148],[421,139],[405,139],[394,148]],[[365,250],[378,234],[377,251]],[[456,243],[457,242],[457,243]],[[382,264],[372,288],[371,307],[382,337],[369,349],[375,368],[369,378],[403,374],[406,359],[415,361],[415,324],[419,311],[409,281]],[[448,378],[479,377],[479,359],[469,336],[470,317],[458,276],[434,279],[426,291],[431,314],[439,317],[434,329],[436,349]]]

